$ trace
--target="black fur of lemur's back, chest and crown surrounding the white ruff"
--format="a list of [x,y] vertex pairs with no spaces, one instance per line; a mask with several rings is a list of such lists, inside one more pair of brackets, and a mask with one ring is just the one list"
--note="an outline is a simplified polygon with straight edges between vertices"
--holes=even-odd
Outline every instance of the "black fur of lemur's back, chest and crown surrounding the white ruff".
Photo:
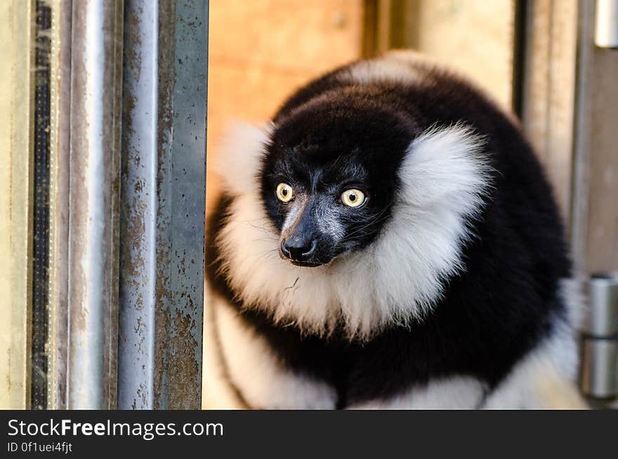
[[[390,215],[388,197],[400,186],[395,172],[410,141],[434,124],[463,122],[486,137],[483,155],[495,171],[487,205],[473,222],[476,237],[463,252],[466,271],[449,280],[435,313],[420,323],[383,330],[368,342],[350,342],[338,332],[303,335],[234,302],[218,271],[214,242],[232,199],[224,196],[208,225],[209,283],[289,368],[333,384],[339,408],[385,399],[440,376],[473,375],[494,387],[548,335],[555,317],[565,316],[557,291],[558,280],[570,274],[570,261],[539,162],[518,127],[468,82],[426,69],[419,84],[358,86],[341,83],[338,75],[346,71],[342,67],[305,86],[275,115],[278,129],[261,176],[273,226],[281,228],[284,212],[272,195],[282,174],[324,169],[341,152],[351,152],[343,164],[358,162],[370,172],[362,178],[371,199],[360,226],[379,212]],[[339,179],[335,174],[331,181]],[[371,244],[384,223],[361,231],[352,250]],[[353,218],[346,225],[354,231]]]

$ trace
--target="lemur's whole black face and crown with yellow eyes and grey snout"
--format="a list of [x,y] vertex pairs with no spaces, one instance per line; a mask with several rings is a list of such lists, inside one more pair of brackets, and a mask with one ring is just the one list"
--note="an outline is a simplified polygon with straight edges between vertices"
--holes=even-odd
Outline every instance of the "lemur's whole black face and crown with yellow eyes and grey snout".
[[261,174],[276,250],[297,266],[372,243],[390,218],[412,139],[408,122],[379,108],[322,105],[277,122]]

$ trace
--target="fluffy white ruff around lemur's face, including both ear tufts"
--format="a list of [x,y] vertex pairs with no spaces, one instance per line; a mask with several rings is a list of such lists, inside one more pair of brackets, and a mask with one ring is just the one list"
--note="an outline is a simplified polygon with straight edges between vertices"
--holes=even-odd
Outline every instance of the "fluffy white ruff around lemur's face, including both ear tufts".
[[257,177],[270,129],[237,128],[221,155],[223,186],[234,200],[217,242],[244,306],[306,332],[327,334],[341,321],[359,339],[423,318],[445,280],[464,269],[468,221],[489,187],[482,138],[461,125],[416,138],[399,171],[404,185],[393,218],[376,241],[326,266],[302,268],[280,258],[280,235],[261,202]]

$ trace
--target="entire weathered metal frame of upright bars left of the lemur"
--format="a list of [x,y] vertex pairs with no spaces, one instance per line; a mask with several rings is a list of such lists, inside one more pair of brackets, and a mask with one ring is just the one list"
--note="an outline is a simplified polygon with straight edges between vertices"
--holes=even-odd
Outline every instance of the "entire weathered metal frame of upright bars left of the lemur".
[[208,2],[25,5],[0,9],[0,406],[199,408]]

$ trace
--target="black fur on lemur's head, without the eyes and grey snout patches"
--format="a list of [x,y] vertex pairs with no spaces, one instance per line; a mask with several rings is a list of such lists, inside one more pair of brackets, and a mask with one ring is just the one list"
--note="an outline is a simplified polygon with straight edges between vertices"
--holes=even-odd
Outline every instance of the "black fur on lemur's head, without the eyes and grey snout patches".
[[[281,124],[272,135],[261,176],[262,200],[277,230],[288,205],[273,190],[285,182],[310,195],[304,212],[309,222],[315,224],[319,212],[326,210],[346,229],[346,237],[337,241],[313,226],[301,228],[319,241],[314,261],[324,264],[366,247],[388,221],[399,186],[397,169],[407,146],[420,134],[412,118],[393,110],[380,94],[354,87],[327,93],[278,118]],[[362,207],[338,202],[350,188],[367,196]]]

